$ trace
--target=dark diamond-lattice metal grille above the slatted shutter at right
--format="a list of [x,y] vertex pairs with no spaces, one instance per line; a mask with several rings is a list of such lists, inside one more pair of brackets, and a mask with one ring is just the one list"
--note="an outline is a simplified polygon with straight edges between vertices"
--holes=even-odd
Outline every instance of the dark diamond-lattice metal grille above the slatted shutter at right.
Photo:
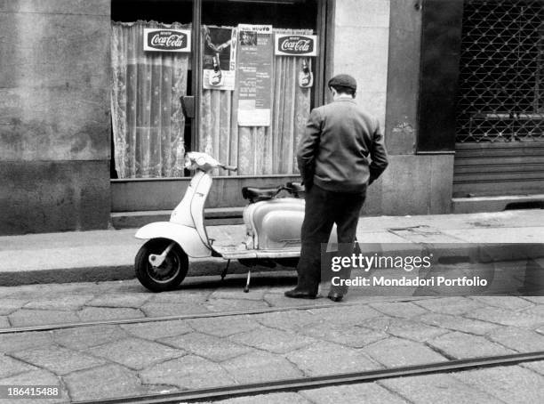
[[456,141],[544,141],[544,0],[465,0]]

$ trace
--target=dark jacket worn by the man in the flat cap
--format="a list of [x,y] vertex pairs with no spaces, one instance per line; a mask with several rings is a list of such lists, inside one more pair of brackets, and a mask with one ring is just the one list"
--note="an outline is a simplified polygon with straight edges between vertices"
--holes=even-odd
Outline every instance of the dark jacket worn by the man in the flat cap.
[[388,166],[380,123],[351,99],[313,109],[297,162],[307,186],[362,192]]

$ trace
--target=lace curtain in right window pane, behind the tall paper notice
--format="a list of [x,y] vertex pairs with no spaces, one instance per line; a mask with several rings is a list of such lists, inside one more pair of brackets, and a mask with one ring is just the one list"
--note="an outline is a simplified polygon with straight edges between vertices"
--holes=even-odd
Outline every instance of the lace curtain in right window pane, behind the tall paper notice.
[[[285,29],[276,32],[313,33]],[[235,92],[203,89],[198,123],[200,151],[238,166],[234,175],[296,174],[295,152],[309,117],[311,96],[311,89],[301,88],[298,83],[302,59],[274,57],[270,126],[238,126]]]

